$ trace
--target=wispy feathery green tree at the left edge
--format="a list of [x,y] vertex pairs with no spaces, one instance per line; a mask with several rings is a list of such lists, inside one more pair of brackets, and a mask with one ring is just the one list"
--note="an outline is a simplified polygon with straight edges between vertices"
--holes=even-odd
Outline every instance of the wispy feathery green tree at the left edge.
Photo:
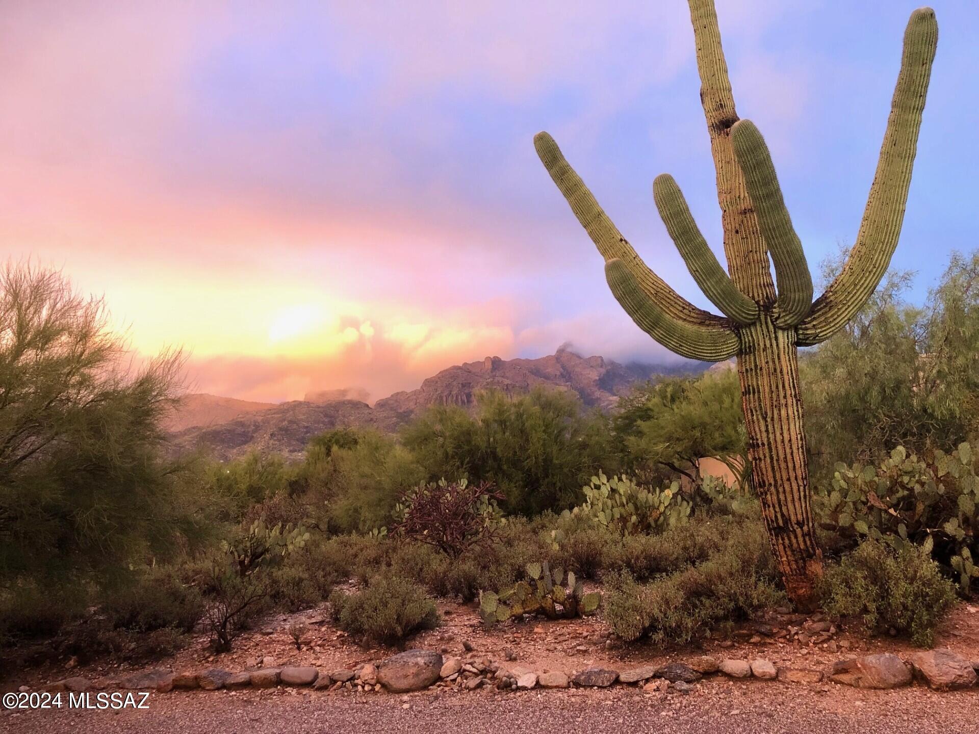
[[99,298],[29,264],[0,271],[0,584],[118,571],[198,534],[160,419],[182,357],[141,366]]

